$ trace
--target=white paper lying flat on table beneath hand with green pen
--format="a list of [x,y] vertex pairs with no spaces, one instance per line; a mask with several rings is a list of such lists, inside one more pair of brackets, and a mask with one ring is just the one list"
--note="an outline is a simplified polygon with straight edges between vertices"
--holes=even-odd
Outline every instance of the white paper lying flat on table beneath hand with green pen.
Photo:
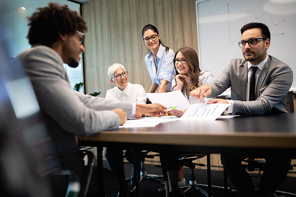
[[137,118],[127,120],[122,126],[119,128],[131,128],[131,127],[156,127],[159,123],[176,121],[179,118],[176,116],[163,116],[161,118],[158,117],[145,117],[145,118]]

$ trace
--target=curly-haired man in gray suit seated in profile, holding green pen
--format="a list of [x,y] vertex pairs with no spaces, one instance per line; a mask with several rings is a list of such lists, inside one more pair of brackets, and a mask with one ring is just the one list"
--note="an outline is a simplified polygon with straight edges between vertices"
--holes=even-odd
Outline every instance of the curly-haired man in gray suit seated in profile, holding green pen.
[[[19,54],[15,61],[22,62],[30,77],[64,169],[83,177],[84,163],[78,151],[77,135],[118,128],[135,113],[167,114],[166,107],[160,104],[116,102],[72,90],[63,64],[78,66],[87,27],[82,17],[67,5],[49,3],[47,7],[38,8],[29,18],[29,27],[32,48]],[[104,180],[105,193],[117,190],[116,180]]]

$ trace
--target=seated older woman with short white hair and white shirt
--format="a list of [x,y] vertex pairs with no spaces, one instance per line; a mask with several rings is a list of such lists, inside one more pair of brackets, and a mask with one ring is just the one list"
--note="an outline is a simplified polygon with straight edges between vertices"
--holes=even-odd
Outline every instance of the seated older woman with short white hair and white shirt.
[[[145,89],[139,84],[131,84],[128,82],[128,75],[125,67],[121,64],[113,64],[108,69],[108,77],[110,82],[116,84],[116,87],[107,91],[106,99],[116,101],[128,101],[133,103],[146,103],[147,97]],[[135,118],[141,118],[142,114],[134,114]],[[137,177],[140,175],[141,150],[134,149]],[[123,151],[120,148],[108,146],[105,157],[112,172],[114,172],[119,180],[119,197],[126,197],[127,183],[125,181],[124,166],[123,166]],[[126,159],[133,163],[131,149],[125,152]],[[133,182],[135,176],[132,177]],[[135,182],[134,182],[135,183]]]

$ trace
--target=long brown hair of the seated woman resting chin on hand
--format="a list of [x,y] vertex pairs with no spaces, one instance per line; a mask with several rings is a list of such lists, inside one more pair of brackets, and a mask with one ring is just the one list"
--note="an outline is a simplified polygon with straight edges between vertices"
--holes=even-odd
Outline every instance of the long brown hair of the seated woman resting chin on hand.
[[[189,72],[191,75],[191,81],[192,83],[189,86],[189,91],[194,90],[200,86],[202,86],[203,84],[199,81],[199,75],[204,74],[205,72],[200,74],[200,68],[199,68],[199,61],[198,61],[198,56],[196,54],[196,52],[194,51],[194,49],[192,49],[191,47],[182,47],[180,49],[178,49],[178,51],[175,54],[174,59],[176,59],[177,54],[181,52],[184,57],[185,60],[189,66]],[[177,81],[176,81],[176,75],[180,74],[175,66],[175,82],[176,84],[174,85],[174,87],[172,88],[172,90],[177,86]]]

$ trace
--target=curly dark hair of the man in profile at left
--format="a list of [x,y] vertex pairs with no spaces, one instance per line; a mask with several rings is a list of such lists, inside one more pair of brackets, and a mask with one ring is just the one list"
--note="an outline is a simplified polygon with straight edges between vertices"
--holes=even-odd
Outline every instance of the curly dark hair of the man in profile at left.
[[48,7],[37,8],[29,19],[27,38],[31,45],[43,44],[50,46],[58,40],[59,33],[73,35],[76,31],[86,32],[85,21],[68,5],[48,3]]

